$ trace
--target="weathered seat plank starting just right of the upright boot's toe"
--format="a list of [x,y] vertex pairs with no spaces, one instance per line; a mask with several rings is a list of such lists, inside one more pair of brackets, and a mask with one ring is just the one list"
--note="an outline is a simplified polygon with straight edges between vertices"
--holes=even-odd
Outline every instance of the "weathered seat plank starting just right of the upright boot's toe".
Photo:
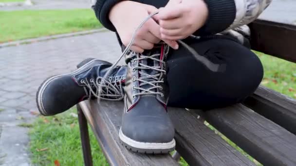
[[169,108],[176,149],[190,166],[255,166],[188,111]]

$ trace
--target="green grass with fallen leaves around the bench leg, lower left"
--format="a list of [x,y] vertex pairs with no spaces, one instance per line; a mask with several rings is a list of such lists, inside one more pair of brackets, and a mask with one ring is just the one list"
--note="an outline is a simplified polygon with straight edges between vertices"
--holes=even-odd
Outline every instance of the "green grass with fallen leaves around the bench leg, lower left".
[[[29,135],[32,162],[37,166],[83,166],[80,133],[77,117],[66,113],[44,117],[39,116]],[[89,129],[91,131],[91,129]],[[98,143],[90,132],[94,166],[108,166]]]

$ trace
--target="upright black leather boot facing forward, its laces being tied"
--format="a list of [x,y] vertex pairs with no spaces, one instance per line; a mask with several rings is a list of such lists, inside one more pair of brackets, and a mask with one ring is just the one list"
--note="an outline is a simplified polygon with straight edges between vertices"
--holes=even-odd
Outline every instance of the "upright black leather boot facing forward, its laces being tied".
[[175,148],[174,126],[166,110],[168,48],[158,44],[142,54],[126,55],[125,108],[119,138],[132,151],[168,153]]

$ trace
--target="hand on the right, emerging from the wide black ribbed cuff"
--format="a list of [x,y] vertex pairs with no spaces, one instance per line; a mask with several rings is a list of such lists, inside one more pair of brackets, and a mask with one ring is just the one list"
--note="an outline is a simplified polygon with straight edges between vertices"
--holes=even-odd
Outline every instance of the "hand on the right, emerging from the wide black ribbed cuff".
[[203,0],[169,0],[155,17],[161,27],[161,38],[184,39],[200,29],[208,16]]

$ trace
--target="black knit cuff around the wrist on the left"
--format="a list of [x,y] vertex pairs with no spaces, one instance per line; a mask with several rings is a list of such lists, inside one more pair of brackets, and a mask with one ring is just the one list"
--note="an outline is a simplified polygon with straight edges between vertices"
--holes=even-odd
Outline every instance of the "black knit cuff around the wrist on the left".
[[113,32],[115,32],[116,29],[109,19],[109,12],[111,8],[120,1],[122,0],[97,0],[93,9],[95,16],[101,24]]

